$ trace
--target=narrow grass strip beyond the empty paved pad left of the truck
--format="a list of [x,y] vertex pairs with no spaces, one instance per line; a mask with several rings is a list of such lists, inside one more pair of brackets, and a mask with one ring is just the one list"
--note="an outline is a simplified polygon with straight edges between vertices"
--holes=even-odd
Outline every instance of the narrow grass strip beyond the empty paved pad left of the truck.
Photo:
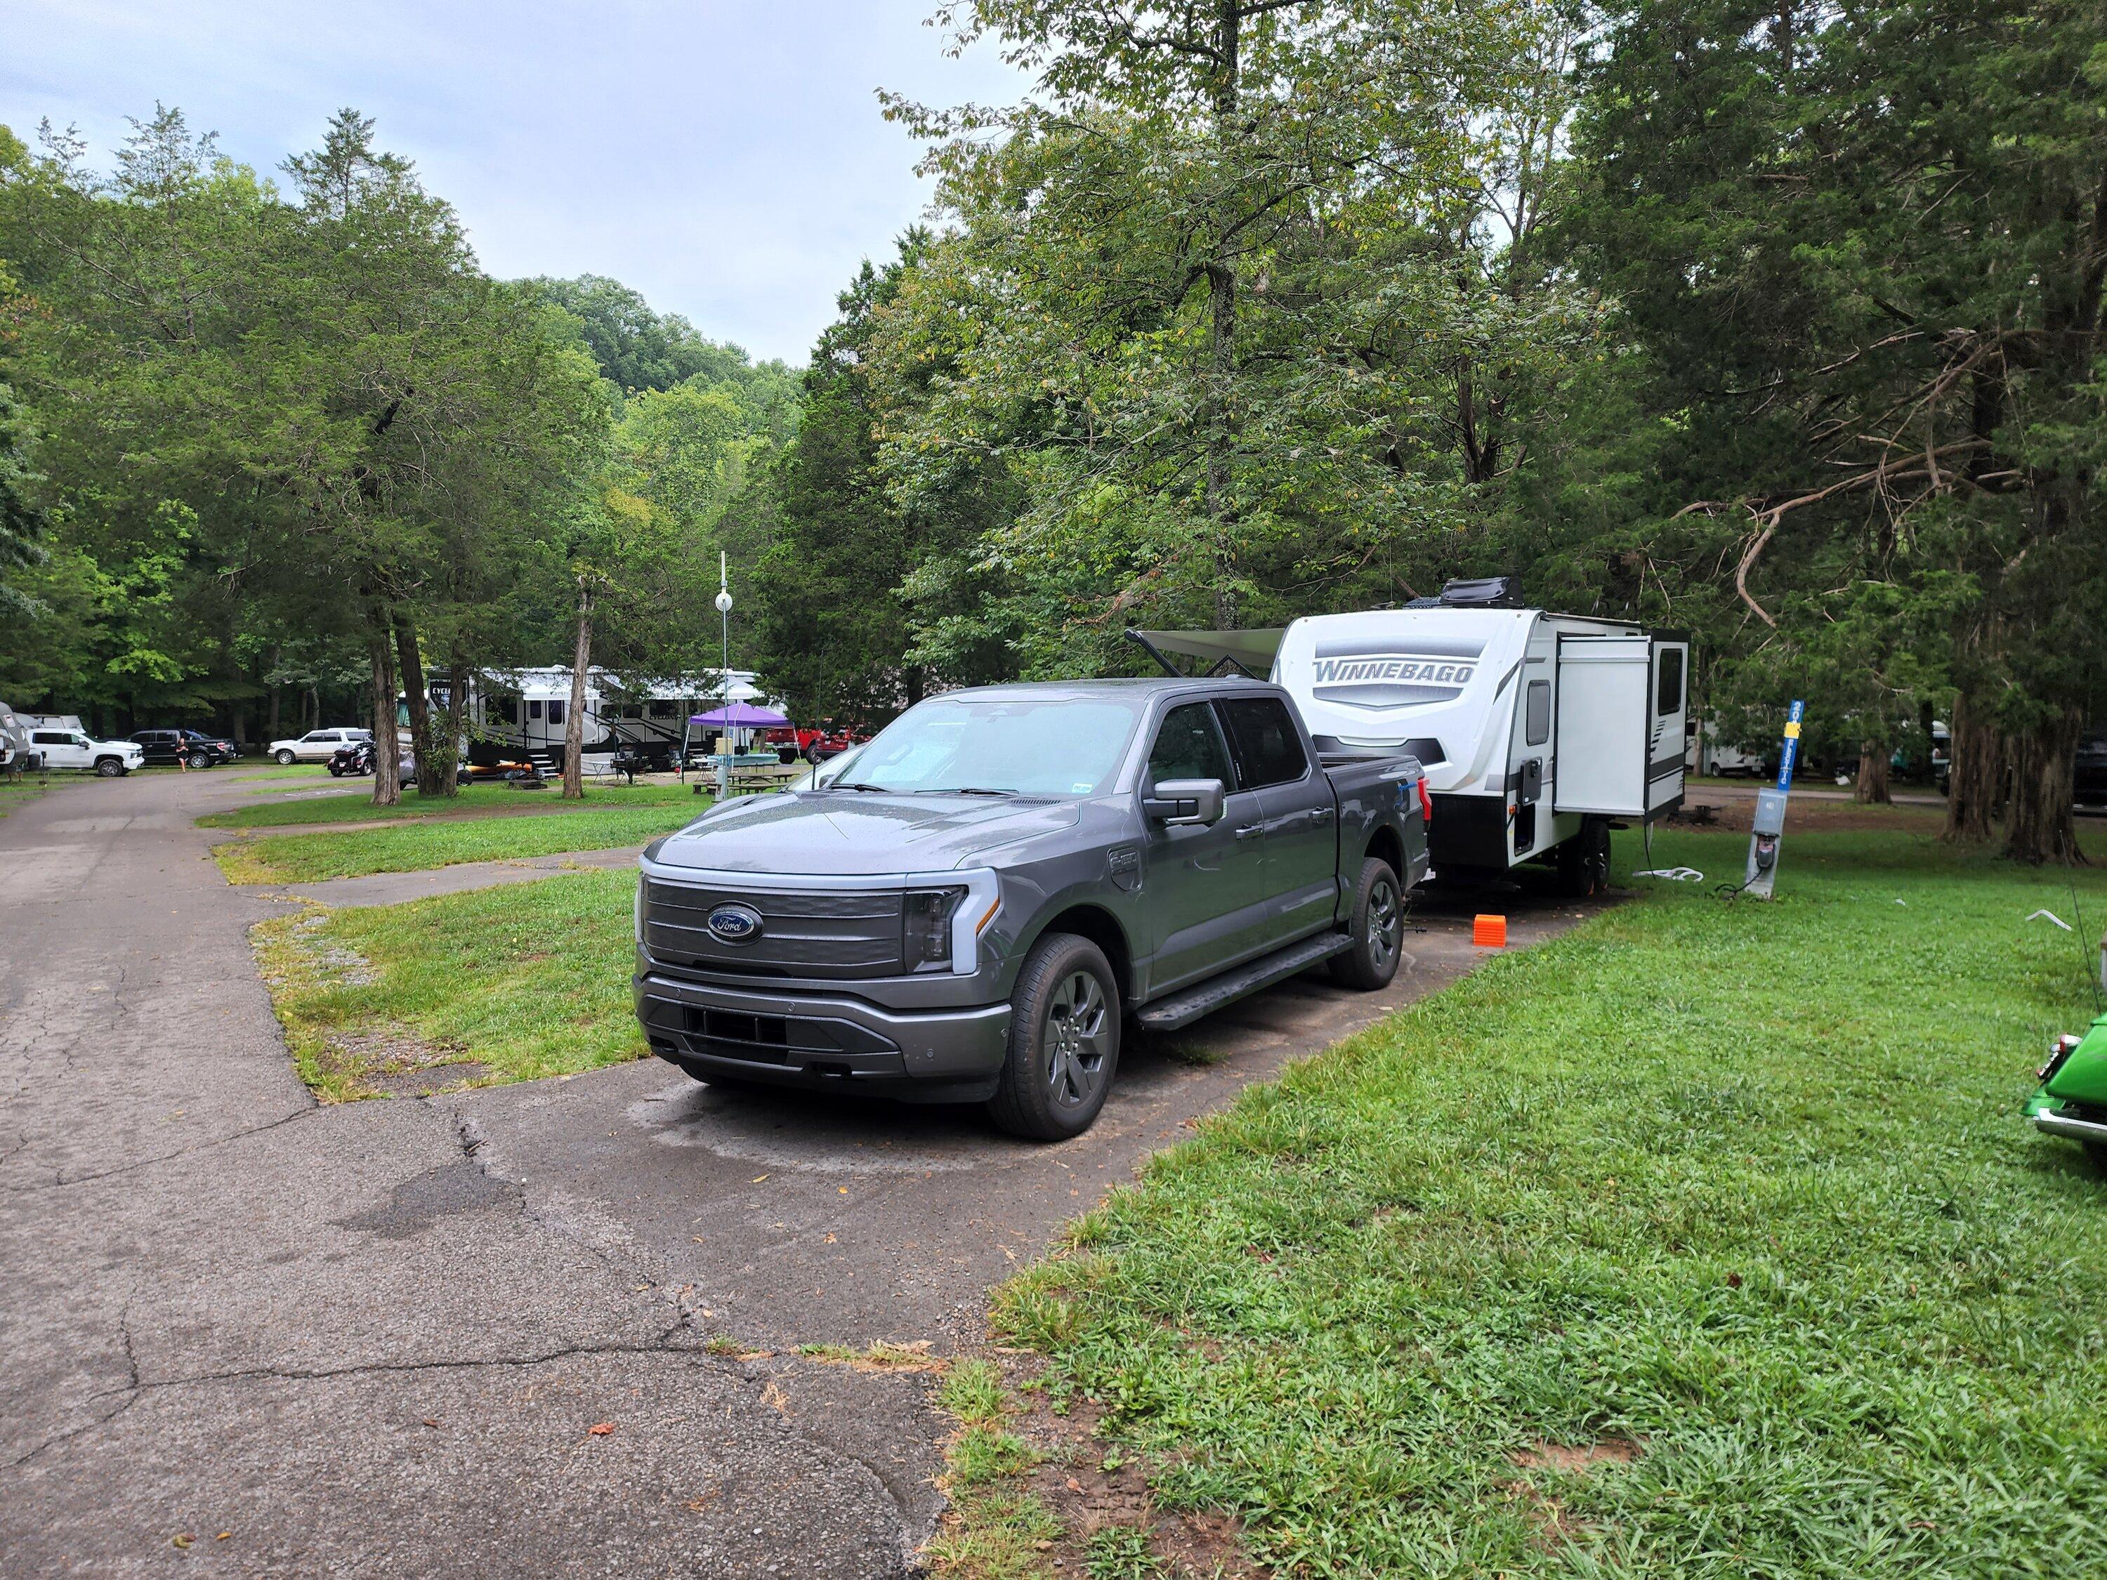
[[213,847],[228,883],[318,883],[369,872],[426,872],[459,862],[607,851],[643,845],[697,817],[704,796],[641,805],[586,803],[525,817],[432,817],[398,828],[335,834],[242,836]]

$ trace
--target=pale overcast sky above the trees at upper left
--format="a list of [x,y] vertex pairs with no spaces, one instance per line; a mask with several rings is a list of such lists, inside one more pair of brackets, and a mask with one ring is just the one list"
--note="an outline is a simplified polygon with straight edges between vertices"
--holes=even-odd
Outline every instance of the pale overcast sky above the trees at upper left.
[[874,88],[1007,101],[933,0],[0,0],[0,124],[99,164],[181,105],[272,171],[341,105],[451,200],[493,274],[611,274],[712,339],[803,362],[855,263],[929,198]]

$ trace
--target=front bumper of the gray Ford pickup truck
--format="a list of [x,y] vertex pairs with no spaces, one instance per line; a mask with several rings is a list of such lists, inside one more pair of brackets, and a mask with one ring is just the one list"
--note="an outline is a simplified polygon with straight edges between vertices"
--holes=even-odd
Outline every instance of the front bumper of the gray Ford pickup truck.
[[777,994],[653,971],[632,982],[651,1051],[702,1079],[980,1102],[995,1095],[1009,1049],[1009,1005],[900,1013],[847,994]]

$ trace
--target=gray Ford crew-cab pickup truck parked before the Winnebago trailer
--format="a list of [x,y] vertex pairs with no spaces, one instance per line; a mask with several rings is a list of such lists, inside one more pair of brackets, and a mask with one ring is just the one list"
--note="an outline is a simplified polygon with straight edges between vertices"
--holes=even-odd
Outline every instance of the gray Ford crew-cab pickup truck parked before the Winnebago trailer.
[[1125,1015],[1184,1026],[1319,961],[1384,986],[1424,819],[1414,758],[1319,756],[1260,680],[950,691],[832,784],[645,851],[636,1015],[702,1081],[1079,1135]]

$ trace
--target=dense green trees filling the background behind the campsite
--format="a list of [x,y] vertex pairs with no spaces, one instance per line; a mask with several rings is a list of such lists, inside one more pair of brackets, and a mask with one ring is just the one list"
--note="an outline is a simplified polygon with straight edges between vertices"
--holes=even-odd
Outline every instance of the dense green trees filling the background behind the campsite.
[[0,137],[0,693],[240,731],[426,666],[697,672],[723,552],[733,659],[868,723],[1134,668],[1129,624],[1515,571],[1692,630],[1728,742],[1806,695],[1867,798],[1949,720],[1949,832],[2078,857],[2096,0],[938,21],[1035,86],[887,99],[933,225],[803,375],[615,280],[487,280],[350,112],[287,194],[173,112],[110,175]]

